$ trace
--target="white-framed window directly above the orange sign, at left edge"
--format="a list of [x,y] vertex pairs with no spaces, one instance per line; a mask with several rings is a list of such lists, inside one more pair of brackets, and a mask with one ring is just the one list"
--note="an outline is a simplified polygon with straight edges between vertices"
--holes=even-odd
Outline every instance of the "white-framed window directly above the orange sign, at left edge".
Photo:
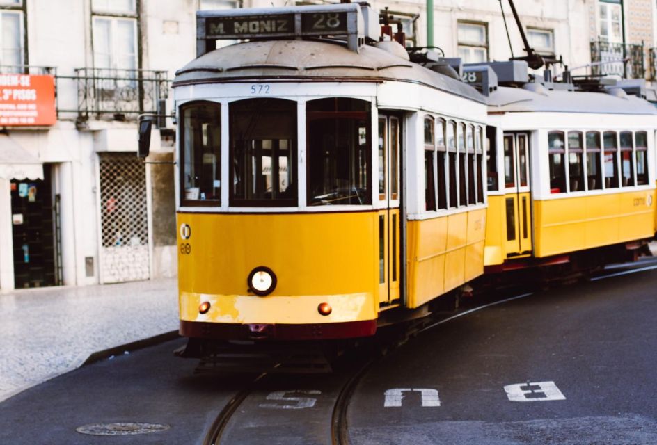
[[2,72],[22,72],[26,65],[24,14],[22,0],[0,1],[0,65]]

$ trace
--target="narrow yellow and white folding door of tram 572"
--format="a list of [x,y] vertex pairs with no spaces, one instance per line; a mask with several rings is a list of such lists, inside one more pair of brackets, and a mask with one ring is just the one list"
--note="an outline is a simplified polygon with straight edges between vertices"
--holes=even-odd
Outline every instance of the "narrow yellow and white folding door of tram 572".
[[379,304],[399,300],[399,118],[379,115]]

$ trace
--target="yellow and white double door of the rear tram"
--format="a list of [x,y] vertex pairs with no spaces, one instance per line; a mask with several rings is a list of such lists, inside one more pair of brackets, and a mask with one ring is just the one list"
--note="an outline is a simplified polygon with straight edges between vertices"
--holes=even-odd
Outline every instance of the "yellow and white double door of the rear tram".
[[532,252],[532,207],[528,133],[504,133],[507,257]]

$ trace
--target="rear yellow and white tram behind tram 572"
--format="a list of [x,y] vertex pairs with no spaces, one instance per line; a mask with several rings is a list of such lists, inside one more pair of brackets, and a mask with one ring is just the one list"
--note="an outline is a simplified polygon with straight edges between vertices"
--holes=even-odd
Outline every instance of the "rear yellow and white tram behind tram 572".
[[620,86],[526,72],[500,70],[489,97],[486,270],[562,275],[636,259],[655,235],[657,109]]

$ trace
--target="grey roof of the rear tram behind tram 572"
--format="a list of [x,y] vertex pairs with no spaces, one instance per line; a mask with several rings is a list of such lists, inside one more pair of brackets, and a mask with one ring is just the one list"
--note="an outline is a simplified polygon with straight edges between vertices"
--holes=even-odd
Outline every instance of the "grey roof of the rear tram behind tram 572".
[[605,92],[499,87],[489,96],[489,112],[557,112],[594,114],[657,115],[657,108],[633,95]]

